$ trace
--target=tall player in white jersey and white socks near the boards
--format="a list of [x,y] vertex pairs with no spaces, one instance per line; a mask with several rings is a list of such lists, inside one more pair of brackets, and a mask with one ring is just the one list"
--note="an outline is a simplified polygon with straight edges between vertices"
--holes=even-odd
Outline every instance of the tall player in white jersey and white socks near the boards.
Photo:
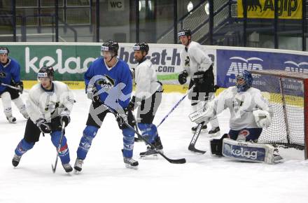
[[[214,85],[213,62],[202,50],[200,43],[192,41],[190,29],[181,29],[178,33],[179,39],[185,47],[181,51],[181,66],[183,71],[179,74],[179,83],[185,84],[187,77],[190,76],[189,89],[193,87],[193,92],[188,94],[191,100],[192,112],[203,109],[211,97],[214,97],[216,86]],[[211,130],[209,134],[216,136],[220,131],[218,119],[211,120]],[[207,129],[207,125],[202,127],[202,131]],[[192,127],[195,132],[197,126]]]

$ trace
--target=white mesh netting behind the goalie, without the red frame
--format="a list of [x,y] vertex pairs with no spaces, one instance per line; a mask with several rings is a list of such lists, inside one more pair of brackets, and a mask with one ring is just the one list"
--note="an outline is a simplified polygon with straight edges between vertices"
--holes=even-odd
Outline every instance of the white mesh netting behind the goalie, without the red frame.
[[263,128],[260,143],[304,146],[304,85],[297,78],[253,74],[253,87],[262,91],[274,111],[272,124]]

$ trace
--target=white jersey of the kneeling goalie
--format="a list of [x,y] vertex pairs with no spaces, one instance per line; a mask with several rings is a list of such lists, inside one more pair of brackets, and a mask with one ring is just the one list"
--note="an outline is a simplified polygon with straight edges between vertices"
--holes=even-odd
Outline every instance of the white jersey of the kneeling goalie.
[[230,129],[232,130],[258,127],[253,117],[255,110],[268,111],[273,116],[269,102],[262,96],[261,91],[254,87],[250,87],[246,92],[237,92],[235,86],[229,87],[208,105],[214,107],[215,115],[224,109],[230,109]]

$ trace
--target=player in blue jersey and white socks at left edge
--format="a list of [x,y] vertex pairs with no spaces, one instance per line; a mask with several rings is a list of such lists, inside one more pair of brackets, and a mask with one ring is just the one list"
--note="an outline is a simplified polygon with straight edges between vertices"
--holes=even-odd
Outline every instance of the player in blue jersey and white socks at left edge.
[[[15,123],[16,118],[12,113],[11,101],[18,107],[22,116],[28,119],[29,115],[25,103],[20,98],[20,93],[24,89],[22,80],[20,80],[20,64],[15,59],[8,57],[9,52],[8,48],[0,47],[0,97],[6,119],[9,123]],[[19,90],[8,87],[8,85],[17,87]]]

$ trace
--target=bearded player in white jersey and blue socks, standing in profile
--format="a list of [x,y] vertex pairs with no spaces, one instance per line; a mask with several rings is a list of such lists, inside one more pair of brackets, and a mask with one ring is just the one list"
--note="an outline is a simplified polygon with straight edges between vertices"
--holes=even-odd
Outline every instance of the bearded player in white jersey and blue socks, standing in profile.
[[[130,101],[129,108],[132,110],[138,108],[137,125],[141,130],[141,135],[162,152],[162,142],[158,136],[158,129],[153,124],[155,113],[162,101],[162,83],[158,81],[152,62],[146,59],[149,50],[148,44],[136,43],[133,49],[138,66],[134,70],[136,92]],[[140,158],[157,157],[157,151],[153,150],[151,146],[147,146],[147,150],[140,153]]]

